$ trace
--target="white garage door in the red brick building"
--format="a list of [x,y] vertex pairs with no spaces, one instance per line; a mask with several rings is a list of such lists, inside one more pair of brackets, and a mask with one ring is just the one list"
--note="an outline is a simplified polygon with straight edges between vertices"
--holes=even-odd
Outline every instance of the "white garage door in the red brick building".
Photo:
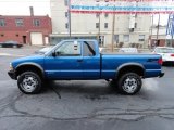
[[34,46],[44,44],[41,32],[30,32],[30,40]]

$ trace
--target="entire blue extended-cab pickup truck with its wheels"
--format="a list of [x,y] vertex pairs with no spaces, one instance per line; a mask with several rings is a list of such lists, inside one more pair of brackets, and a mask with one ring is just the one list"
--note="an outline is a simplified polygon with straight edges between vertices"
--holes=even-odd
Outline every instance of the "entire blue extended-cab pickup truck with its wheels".
[[63,40],[50,51],[14,60],[9,76],[26,94],[40,92],[48,80],[112,80],[120,92],[135,94],[142,78],[162,77],[157,54],[101,54],[97,40]]

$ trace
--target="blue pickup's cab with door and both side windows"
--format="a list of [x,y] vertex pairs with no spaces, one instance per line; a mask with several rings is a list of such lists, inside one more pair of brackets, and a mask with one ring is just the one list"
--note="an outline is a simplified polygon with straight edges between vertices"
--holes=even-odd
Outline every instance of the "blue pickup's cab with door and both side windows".
[[47,54],[48,78],[99,79],[100,53],[95,40],[65,40]]

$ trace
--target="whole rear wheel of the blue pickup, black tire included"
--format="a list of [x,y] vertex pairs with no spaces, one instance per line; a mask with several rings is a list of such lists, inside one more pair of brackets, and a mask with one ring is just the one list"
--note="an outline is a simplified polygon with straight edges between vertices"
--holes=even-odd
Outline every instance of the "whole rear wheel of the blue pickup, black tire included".
[[126,73],[122,75],[117,82],[120,92],[127,95],[133,95],[139,92],[141,86],[141,78],[136,73]]

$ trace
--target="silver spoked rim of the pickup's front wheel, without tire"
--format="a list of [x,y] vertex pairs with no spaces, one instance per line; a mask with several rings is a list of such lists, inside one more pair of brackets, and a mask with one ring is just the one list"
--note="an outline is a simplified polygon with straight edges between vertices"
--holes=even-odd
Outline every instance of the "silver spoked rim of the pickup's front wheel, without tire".
[[33,92],[38,84],[38,80],[35,76],[27,75],[22,81],[22,89],[25,92]]

